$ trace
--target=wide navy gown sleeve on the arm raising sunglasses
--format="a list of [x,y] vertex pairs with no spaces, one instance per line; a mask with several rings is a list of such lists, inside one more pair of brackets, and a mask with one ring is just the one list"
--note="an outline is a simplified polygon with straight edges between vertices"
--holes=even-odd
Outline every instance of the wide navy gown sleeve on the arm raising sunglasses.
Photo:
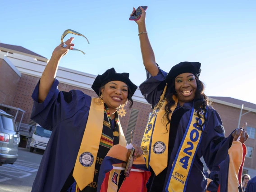
[[58,123],[71,118],[85,105],[90,107],[91,97],[79,90],[59,91],[59,81],[55,79],[45,101],[38,102],[39,82],[32,93],[33,108],[31,119],[43,128],[51,130]]

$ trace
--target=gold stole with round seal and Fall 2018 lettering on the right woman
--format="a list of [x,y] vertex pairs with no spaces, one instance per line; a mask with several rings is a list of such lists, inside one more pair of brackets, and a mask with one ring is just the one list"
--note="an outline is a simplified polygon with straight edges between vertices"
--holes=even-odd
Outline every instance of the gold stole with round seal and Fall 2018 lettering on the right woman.
[[[167,101],[164,100],[165,91],[167,86],[165,86],[164,92],[160,97],[160,101],[155,105],[150,118],[145,129],[144,136],[142,138],[141,148],[143,155],[146,158],[146,166],[149,166],[154,170],[155,175],[160,174],[166,167],[168,161],[168,142],[169,142],[169,126],[167,126],[168,133],[166,130],[166,122],[163,119],[165,114],[165,105]],[[178,99],[173,96],[175,105],[172,106],[171,110],[174,111]],[[169,119],[172,113],[169,114]],[[151,146],[153,144],[153,146]]]

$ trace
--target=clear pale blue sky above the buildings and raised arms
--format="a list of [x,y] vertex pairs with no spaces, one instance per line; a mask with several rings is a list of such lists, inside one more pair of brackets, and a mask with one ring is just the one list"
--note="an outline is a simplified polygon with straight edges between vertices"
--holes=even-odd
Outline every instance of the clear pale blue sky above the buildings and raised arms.
[[[201,62],[208,96],[256,103],[255,0],[2,1],[0,41],[50,59],[64,30],[75,48],[60,66],[91,74],[114,67],[139,85],[146,78],[133,6],[147,5],[146,26],[156,62],[169,71],[181,61]],[[65,39],[72,37],[68,35]]]

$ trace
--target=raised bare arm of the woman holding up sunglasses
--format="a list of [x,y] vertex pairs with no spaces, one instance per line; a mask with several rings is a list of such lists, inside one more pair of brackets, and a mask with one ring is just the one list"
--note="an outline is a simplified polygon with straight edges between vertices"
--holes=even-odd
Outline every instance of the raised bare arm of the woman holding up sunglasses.
[[71,37],[65,42],[65,44],[68,45],[65,48],[59,45],[53,51],[50,61],[46,65],[46,69],[44,70],[40,79],[38,102],[42,103],[43,101],[45,101],[46,96],[50,91],[50,87],[52,86],[56,78],[60,59],[68,53],[70,47],[72,49],[72,46],[74,46],[74,44],[72,43],[73,39],[74,38]]

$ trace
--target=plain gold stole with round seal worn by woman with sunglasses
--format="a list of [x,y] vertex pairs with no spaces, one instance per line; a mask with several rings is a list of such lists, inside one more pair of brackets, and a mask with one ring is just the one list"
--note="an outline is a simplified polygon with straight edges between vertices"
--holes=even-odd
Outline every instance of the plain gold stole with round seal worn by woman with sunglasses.
[[[73,171],[73,177],[77,182],[77,187],[79,187],[81,191],[88,184],[93,182],[96,164],[95,158],[97,156],[101,141],[104,105],[97,105],[97,99],[98,98],[91,98],[89,116]],[[126,146],[126,140],[120,123],[119,145]]]

